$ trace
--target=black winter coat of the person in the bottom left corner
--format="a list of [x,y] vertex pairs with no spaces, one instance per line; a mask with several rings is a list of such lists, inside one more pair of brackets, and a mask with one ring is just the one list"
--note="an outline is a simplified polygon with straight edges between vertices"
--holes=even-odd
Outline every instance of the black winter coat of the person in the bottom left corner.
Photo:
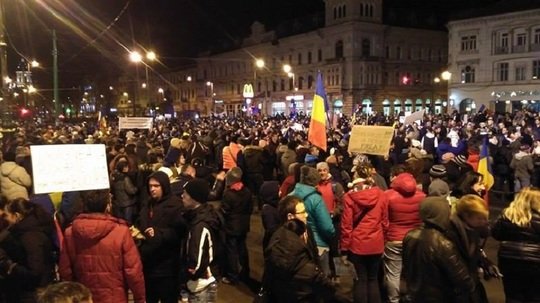
[[2,281],[9,291],[7,302],[37,302],[36,289],[54,278],[54,222],[40,206],[35,206],[21,221],[9,228],[8,238],[0,242],[9,258],[17,263]]

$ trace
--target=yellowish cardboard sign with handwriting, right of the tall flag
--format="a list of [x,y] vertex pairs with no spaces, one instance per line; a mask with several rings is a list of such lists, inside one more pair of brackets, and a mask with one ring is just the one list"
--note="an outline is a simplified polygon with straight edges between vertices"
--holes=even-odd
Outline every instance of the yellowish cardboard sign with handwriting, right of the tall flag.
[[355,125],[349,139],[349,152],[387,156],[393,136],[391,126]]

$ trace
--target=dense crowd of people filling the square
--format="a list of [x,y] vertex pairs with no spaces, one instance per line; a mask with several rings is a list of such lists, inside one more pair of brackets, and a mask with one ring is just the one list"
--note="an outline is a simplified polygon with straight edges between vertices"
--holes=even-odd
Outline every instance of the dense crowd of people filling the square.
[[[388,155],[348,151],[354,125],[367,124],[394,127]],[[308,125],[278,115],[4,133],[0,302],[217,302],[220,283],[253,280],[254,214],[259,302],[488,302],[489,278],[507,302],[540,301],[537,113],[343,117],[327,150]],[[110,189],[34,194],[30,146],[43,144],[105,144]],[[483,146],[494,184],[478,172]],[[511,202],[491,223],[489,192]],[[488,237],[501,242],[498,262]]]

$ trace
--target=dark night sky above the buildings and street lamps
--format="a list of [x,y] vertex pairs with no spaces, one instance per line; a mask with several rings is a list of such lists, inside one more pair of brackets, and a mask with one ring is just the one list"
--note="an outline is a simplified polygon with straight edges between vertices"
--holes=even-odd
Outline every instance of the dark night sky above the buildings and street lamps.
[[[132,71],[125,48],[139,45],[154,50],[162,63],[154,68],[166,72],[189,63],[203,50],[231,47],[249,34],[255,20],[274,29],[287,20],[324,10],[323,0],[2,1],[10,74],[14,74],[20,52],[42,63],[34,75],[40,86],[49,87],[52,28],[58,36],[60,86],[70,87],[113,81]],[[444,28],[449,13],[495,2],[498,0],[386,0],[385,7],[398,16],[411,10],[420,18],[432,16]],[[111,23],[114,25],[106,30]]]

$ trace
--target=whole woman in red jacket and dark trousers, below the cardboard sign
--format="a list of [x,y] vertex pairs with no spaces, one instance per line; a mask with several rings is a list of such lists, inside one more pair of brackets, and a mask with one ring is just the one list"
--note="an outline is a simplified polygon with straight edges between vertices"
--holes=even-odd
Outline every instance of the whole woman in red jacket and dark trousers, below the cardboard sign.
[[387,201],[384,192],[375,186],[370,164],[356,168],[353,188],[344,196],[341,217],[341,250],[354,264],[355,303],[381,302],[378,285],[379,267],[384,251],[387,224]]

